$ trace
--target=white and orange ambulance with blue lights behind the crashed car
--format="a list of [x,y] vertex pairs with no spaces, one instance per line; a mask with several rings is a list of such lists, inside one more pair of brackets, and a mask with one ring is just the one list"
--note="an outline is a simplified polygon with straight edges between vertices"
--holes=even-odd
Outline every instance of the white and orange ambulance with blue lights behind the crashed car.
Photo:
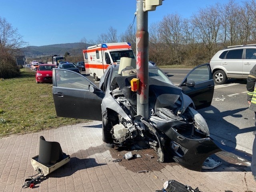
[[121,57],[135,58],[131,44],[104,43],[88,47],[83,50],[86,74],[93,76],[98,81],[110,64],[120,63]]

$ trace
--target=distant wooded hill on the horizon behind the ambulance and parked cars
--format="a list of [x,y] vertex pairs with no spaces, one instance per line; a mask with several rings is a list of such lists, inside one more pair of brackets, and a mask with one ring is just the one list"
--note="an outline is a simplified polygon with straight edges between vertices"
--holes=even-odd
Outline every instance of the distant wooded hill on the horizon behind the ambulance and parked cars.
[[82,55],[82,50],[90,46],[85,46],[84,43],[65,43],[65,44],[53,44],[45,46],[28,46],[22,48],[22,52],[26,58],[38,58],[42,56],[62,55],[69,52],[70,55]]

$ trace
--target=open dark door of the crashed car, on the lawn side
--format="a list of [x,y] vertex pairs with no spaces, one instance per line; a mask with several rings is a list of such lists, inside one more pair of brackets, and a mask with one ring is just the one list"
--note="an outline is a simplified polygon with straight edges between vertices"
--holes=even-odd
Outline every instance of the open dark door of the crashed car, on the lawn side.
[[102,120],[104,93],[87,78],[64,69],[52,71],[52,95],[57,116]]

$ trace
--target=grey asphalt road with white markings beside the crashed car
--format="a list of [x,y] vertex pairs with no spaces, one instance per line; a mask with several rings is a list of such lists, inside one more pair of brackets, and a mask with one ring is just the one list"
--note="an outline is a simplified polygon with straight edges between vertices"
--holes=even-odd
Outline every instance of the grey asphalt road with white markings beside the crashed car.
[[[179,85],[190,69],[163,69],[175,85]],[[92,76],[86,76],[98,86]],[[246,80],[228,80],[215,85],[212,105],[198,110],[206,119],[210,136],[218,146],[250,160],[256,130],[254,112],[248,109]]]

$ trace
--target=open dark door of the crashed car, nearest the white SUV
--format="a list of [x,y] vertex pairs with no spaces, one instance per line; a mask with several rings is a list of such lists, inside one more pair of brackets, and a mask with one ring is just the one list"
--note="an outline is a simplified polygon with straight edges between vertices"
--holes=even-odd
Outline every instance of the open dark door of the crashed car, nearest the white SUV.
[[187,74],[179,87],[190,96],[197,110],[210,106],[214,92],[210,64],[196,66]]

